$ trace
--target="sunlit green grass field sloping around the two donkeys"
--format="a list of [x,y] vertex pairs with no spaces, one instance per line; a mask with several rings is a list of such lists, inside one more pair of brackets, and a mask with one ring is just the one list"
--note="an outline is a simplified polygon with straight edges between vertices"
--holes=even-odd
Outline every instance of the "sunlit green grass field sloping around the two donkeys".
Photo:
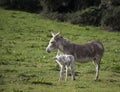
[[[95,67],[75,63],[76,80],[58,81],[56,51],[45,49],[51,30],[76,43],[100,40],[105,47],[100,79]],[[119,92],[120,33],[51,21],[38,14],[0,9],[0,92]]]

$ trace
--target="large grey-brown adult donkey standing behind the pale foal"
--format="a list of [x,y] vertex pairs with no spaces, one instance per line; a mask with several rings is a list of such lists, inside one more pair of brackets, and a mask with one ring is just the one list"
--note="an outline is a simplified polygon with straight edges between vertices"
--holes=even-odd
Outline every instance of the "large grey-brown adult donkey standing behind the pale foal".
[[86,63],[88,61],[93,61],[96,67],[96,76],[94,79],[98,80],[101,58],[104,53],[104,47],[101,42],[93,41],[86,44],[75,44],[63,38],[60,33],[51,34],[52,38],[46,48],[48,53],[58,49],[64,54],[73,55],[78,62]]

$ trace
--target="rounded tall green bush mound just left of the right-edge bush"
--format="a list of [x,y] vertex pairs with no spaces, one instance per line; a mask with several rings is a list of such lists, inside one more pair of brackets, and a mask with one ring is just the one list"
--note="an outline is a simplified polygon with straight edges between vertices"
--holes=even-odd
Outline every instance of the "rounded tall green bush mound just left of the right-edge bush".
[[72,15],[72,24],[87,24],[98,26],[101,20],[101,10],[97,7],[90,7],[76,12]]

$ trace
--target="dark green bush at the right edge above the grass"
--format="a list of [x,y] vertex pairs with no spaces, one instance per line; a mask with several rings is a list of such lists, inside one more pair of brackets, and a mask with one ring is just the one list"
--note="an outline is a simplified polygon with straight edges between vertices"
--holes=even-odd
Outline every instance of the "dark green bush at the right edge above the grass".
[[111,31],[120,31],[120,6],[105,10],[101,25]]

